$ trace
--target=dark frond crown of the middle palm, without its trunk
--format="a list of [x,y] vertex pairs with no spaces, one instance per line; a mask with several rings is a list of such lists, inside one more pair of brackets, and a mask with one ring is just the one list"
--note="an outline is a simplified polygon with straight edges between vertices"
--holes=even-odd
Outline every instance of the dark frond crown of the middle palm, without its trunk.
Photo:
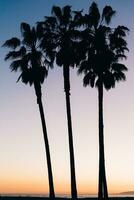
[[[76,14],[72,12],[71,6],[62,9],[57,6],[52,8],[52,16],[45,17],[45,21],[39,24],[44,27],[42,48],[49,43],[51,52],[56,52],[56,63],[58,66],[74,66],[77,60],[76,47],[79,31],[75,27]],[[47,34],[47,37],[46,37]],[[46,46],[46,45],[45,45]]]

